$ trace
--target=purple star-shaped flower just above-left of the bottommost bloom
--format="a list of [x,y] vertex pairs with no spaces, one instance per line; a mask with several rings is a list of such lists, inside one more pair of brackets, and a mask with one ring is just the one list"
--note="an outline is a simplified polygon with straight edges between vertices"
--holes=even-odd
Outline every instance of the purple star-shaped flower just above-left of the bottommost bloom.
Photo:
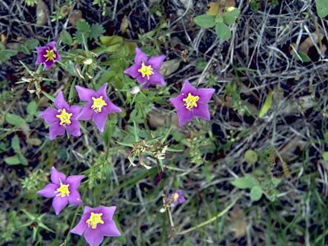
[[52,200],[52,207],[55,209],[56,215],[59,214],[60,210],[65,208],[67,201],[70,201],[74,206],[83,204],[80,194],[76,189],[80,185],[80,181],[84,178],[84,175],[72,175],[66,178],[64,173],[60,173],[52,167],[50,178],[53,183],[49,183],[43,190],[37,191],[36,193],[44,197],[55,197]]

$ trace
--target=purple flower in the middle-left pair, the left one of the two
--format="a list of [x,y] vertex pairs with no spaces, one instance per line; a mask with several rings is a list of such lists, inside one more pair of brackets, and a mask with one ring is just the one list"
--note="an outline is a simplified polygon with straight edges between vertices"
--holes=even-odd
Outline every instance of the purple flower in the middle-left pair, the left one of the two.
[[80,106],[69,106],[63,96],[63,92],[59,91],[55,102],[55,108],[48,108],[44,112],[39,114],[39,117],[43,117],[47,124],[51,124],[49,127],[50,140],[56,136],[63,135],[65,129],[69,134],[74,136],[80,136],[80,125],[76,119],[78,113],[82,109]]

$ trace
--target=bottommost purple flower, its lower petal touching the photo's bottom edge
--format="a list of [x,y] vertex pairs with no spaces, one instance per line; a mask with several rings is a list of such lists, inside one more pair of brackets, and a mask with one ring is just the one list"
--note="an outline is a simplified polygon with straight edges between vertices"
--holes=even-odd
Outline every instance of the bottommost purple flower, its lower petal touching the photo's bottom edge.
[[104,236],[120,236],[113,220],[115,209],[115,206],[101,205],[97,208],[84,207],[84,213],[71,233],[84,234],[90,246],[98,246],[104,240]]

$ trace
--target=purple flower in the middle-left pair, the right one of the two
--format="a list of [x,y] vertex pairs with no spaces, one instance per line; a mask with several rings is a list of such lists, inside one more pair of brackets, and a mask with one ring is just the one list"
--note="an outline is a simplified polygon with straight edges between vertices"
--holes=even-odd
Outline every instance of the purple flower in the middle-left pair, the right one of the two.
[[122,110],[116,107],[107,97],[105,83],[99,90],[86,89],[80,86],[75,86],[78,97],[83,101],[89,101],[76,119],[93,119],[100,132],[104,132],[107,114],[112,112],[121,112]]

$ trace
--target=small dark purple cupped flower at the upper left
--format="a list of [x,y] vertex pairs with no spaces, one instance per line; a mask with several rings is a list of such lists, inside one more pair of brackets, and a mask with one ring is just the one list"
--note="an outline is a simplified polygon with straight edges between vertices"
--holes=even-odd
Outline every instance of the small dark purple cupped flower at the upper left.
[[56,42],[52,41],[46,46],[35,47],[37,51],[37,58],[35,64],[44,64],[46,65],[46,71],[49,70],[56,60],[61,60],[57,49],[55,47]]

